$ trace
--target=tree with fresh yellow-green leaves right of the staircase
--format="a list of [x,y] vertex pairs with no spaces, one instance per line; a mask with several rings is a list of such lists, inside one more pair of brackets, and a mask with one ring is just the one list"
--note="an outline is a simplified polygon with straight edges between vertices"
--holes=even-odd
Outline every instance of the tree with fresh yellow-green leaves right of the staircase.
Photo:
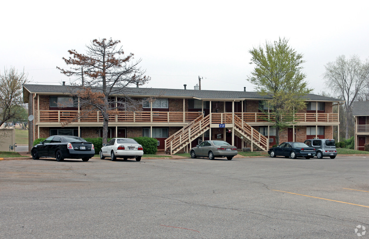
[[[265,119],[276,128],[276,142],[279,132],[294,124],[295,113],[306,107],[305,97],[313,89],[304,82],[306,75],[301,72],[303,55],[288,45],[288,40],[267,42],[249,51],[250,64],[255,64],[248,81],[255,90],[265,97],[264,104],[269,110]],[[263,110],[263,109],[262,109]]]

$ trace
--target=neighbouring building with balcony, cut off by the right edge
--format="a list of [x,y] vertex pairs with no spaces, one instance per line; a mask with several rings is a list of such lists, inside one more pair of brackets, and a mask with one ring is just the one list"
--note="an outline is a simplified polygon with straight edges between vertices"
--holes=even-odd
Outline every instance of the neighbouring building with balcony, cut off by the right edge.
[[369,101],[354,101],[352,115],[355,118],[355,148],[364,150],[369,143]]

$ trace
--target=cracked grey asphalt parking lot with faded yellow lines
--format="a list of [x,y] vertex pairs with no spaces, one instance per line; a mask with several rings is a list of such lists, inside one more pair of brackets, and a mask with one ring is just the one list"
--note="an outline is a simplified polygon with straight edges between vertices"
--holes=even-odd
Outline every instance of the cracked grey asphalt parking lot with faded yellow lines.
[[369,238],[365,156],[6,160],[0,181],[0,238]]

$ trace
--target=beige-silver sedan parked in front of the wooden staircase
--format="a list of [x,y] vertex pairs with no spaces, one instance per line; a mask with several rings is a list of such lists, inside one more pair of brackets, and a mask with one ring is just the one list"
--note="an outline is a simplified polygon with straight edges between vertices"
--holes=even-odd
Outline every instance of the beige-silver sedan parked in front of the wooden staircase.
[[237,148],[222,140],[207,140],[193,147],[190,154],[193,159],[199,156],[208,157],[211,160],[215,157],[227,157],[231,160],[237,155]]

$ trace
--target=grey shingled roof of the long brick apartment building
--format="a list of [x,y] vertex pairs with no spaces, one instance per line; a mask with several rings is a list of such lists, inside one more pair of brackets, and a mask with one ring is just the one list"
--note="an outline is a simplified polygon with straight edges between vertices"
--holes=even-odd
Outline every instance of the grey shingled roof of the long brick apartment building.
[[[23,96],[24,101],[28,101],[28,94],[63,94],[68,92],[68,87],[65,85],[39,85],[39,84],[24,84]],[[118,88],[117,88],[118,90]],[[162,89],[162,88],[138,88],[129,87],[125,90],[127,96],[155,97],[161,98],[196,98],[202,100],[267,100],[271,97],[261,96],[258,92],[253,91],[223,91],[223,90],[184,90],[184,89]],[[307,94],[307,101],[343,101],[337,98],[319,96],[316,94]],[[27,103],[27,102],[25,102]]]

